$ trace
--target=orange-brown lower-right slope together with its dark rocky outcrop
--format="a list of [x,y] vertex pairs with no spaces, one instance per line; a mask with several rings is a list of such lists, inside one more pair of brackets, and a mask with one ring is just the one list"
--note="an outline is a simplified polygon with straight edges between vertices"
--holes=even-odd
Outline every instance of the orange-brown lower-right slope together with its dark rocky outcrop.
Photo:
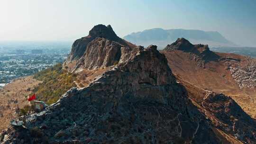
[[[177,78],[180,81],[179,77]],[[185,86],[192,103],[211,122],[213,130],[218,131],[229,141],[225,143],[256,143],[255,119],[245,113],[233,99],[221,93],[204,90],[188,81],[180,81],[180,83]],[[247,139],[247,141],[241,141],[241,139]]]

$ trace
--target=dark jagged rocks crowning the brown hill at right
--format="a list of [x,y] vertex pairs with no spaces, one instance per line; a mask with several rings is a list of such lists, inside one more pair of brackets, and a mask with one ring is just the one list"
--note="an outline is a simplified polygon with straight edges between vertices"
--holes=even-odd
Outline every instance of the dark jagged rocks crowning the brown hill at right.
[[178,38],[173,44],[167,45],[164,51],[179,50],[192,54],[192,60],[198,63],[198,66],[205,67],[209,61],[218,61],[219,56],[210,51],[208,45],[192,45],[185,38]]

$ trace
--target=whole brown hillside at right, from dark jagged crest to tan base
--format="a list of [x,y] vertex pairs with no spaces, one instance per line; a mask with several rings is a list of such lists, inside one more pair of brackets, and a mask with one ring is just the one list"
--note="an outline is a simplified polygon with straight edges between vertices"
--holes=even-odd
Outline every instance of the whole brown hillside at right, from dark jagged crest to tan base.
[[182,38],[161,53],[180,81],[231,96],[256,117],[256,59],[211,52],[207,45],[192,45]]

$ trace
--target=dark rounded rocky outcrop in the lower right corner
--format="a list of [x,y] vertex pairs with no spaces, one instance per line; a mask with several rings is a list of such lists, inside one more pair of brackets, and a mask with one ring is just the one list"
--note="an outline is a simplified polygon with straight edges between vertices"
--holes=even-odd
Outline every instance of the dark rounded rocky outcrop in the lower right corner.
[[216,127],[231,133],[243,143],[256,143],[256,121],[233,99],[223,94],[210,93],[203,99],[202,106]]

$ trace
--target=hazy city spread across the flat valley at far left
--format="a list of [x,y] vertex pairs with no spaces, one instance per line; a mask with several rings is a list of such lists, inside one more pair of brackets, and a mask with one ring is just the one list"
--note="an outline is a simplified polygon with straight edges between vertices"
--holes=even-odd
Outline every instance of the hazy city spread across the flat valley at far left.
[[70,46],[64,44],[0,43],[0,89],[16,78],[29,76],[57,63],[63,63],[70,51]]

